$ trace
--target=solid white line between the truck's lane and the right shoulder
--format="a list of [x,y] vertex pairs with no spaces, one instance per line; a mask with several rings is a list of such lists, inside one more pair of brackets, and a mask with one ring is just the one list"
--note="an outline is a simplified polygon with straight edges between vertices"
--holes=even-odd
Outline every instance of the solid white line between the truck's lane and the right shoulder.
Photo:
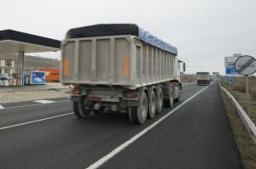
[[[210,86],[210,85],[209,85]],[[207,87],[209,87],[207,86]],[[124,144],[119,145],[119,147],[117,147],[116,149],[113,149],[110,153],[108,153],[108,155],[103,156],[101,159],[99,159],[98,161],[96,161],[95,163],[93,163],[92,165],[88,166],[86,169],[95,169],[98,168],[100,166],[102,166],[104,163],[106,163],[107,161],[109,161],[110,159],[113,158],[114,155],[119,154],[120,151],[122,151],[123,149],[125,149],[126,147],[128,147],[130,144],[132,144],[133,142],[135,142],[137,140],[137,138],[142,137],[146,132],[148,132],[149,130],[151,130],[153,127],[155,127],[156,125],[158,125],[161,121],[164,121],[169,115],[172,115],[173,112],[175,112],[176,110],[178,110],[180,107],[182,107],[184,104],[188,103],[189,100],[195,98],[196,95],[198,95],[199,93],[201,93],[202,91],[204,91],[207,87],[204,87],[203,89],[201,89],[201,91],[199,91],[198,93],[195,93],[193,96],[191,96],[189,99],[187,99],[186,101],[184,101],[182,104],[179,104],[174,110],[170,111],[169,113],[167,113],[166,115],[162,116],[159,120],[155,121],[153,124],[151,124],[150,126],[148,126],[147,128],[143,129],[143,131],[138,132],[135,136],[133,136],[132,138],[130,138],[128,141],[126,141]]]

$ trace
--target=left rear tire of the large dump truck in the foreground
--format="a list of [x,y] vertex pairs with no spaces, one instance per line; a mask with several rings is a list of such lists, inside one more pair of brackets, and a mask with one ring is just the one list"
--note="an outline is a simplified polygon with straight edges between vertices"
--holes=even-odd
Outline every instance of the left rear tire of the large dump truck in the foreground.
[[86,118],[92,114],[91,109],[85,109],[86,104],[89,103],[86,103],[85,97],[81,99],[81,102],[73,102],[74,114],[77,115],[79,118]]

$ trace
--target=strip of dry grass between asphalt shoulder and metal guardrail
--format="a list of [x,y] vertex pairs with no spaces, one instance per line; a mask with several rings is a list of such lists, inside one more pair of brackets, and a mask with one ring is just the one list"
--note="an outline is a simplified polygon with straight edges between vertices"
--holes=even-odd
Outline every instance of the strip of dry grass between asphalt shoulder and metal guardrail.
[[256,168],[256,145],[253,143],[253,139],[244,127],[240,116],[236,112],[233,104],[222,92],[222,98],[224,100],[225,110],[230,119],[230,125],[232,127],[234,138],[236,139],[236,145],[241,155],[241,161],[245,169]]

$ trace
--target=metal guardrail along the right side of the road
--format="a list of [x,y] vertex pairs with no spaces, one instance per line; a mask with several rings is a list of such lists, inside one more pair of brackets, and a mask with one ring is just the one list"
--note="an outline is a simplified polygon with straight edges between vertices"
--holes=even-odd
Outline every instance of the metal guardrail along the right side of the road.
[[250,117],[247,115],[245,110],[241,108],[241,105],[236,101],[236,99],[230,94],[224,87],[220,86],[221,90],[226,94],[226,96],[230,99],[231,103],[235,106],[236,111],[241,117],[241,121],[243,122],[244,126],[247,128],[247,131],[250,133],[251,137],[253,138],[254,144],[256,144],[256,127]]

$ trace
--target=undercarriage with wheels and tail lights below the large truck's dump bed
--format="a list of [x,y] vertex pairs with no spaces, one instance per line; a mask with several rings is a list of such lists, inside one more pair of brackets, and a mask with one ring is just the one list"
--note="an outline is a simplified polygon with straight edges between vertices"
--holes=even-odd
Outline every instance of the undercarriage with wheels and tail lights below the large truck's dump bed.
[[160,114],[163,106],[172,107],[181,98],[181,84],[165,82],[161,85],[127,90],[120,87],[76,86],[71,100],[75,115],[89,117],[108,110],[128,113],[130,121],[143,124],[147,117]]

